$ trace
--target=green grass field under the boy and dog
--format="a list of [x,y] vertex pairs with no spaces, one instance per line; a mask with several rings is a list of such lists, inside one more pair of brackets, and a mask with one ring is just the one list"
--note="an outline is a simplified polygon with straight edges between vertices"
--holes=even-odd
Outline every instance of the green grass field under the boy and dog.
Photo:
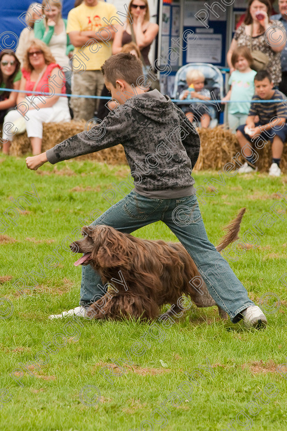
[[[51,321],[50,314],[79,304],[81,268],[73,266],[79,255],[65,251],[62,242],[67,246],[75,239],[76,227],[86,224],[79,218],[110,207],[102,194],[112,183],[126,181],[129,169],[69,161],[34,172],[27,170],[24,158],[4,156],[0,167],[1,431],[287,429],[287,366],[280,368],[281,374],[276,371],[287,362],[287,277],[280,280],[286,275],[285,214],[281,220],[272,213],[276,222],[263,227],[262,235],[257,232],[260,245],[245,252],[238,248],[239,259],[229,261],[256,303],[270,292],[264,305],[269,325],[263,331],[222,322],[216,307],[192,308],[170,328],[159,325],[154,331],[136,321]],[[218,172],[196,172],[194,177],[197,186],[205,187],[204,180],[220,180]],[[284,202],[277,191],[287,191],[287,175],[222,177],[225,185],[212,183],[218,193],[206,197],[205,205],[200,201],[208,237],[215,244],[222,226],[240,208],[246,207],[244,233],[271,212],[276,201]],[[33,193],[32,184],[38,199],[24,194]],[[9,198],[23,194],[31,205],[20,201],[26,211],[19,209],[17,219],[15,211],[8,211],[15,225],[4,213],[17,208]],[[162,223],[135,235],[176,241]],[[46,268],[44,262],[58,246],[63,260]],[[36,272],[32,278],[31,271]],[[25,295],[18,291],[23,281],[34,286]],[[280,305],[272,307],[278,297]],[[136,356],[131,346],[143,336],[144,352]],[[47,344],[48,357],[39,353]],[[228,427],[236,417],[233,428]]]

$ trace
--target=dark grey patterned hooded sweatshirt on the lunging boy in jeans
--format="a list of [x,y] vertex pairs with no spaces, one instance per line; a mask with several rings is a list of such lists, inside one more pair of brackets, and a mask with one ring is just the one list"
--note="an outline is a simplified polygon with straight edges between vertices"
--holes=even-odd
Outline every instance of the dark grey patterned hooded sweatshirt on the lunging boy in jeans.
[[139,194],[158,199],[195,194],[191,173],[199,155],[199,135],[158,90],[131,97],[100,125],[71,136],[46,155],[54,164],[118,144],[124,147]]

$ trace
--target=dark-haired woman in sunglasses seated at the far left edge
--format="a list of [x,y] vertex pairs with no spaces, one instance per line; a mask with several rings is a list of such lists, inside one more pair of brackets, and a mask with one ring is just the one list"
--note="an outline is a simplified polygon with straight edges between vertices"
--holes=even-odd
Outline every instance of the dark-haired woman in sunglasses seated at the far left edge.
[[20,87],[20,62],[13,51],[0,52],[0,123],[3,124],[8,109],[16,105],[17,94],[14,91],[2,91],[1,88]]

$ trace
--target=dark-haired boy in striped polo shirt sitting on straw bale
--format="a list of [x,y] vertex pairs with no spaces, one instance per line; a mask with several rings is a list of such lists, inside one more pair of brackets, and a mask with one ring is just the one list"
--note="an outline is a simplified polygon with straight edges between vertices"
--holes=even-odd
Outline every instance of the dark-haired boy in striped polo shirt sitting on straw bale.
[[[273,89],[273,82],[270,74],[266,70],[260,70],[254,76],[256,94],[252,100],[285,100],[286,97],[281,91]],[[259,122],[254,123],[254,117],[259,116]],[[271,177],[280,177],[280,159],[283,151],[283,144],[287,138],[287,125],[285,124],[287,107],[282,102],[252,103],[246,124],[237,129],[237,139],[242,155],[246,162],[238,169],[239,173],[256,172],[254,163],[258,160],[258,153],[252,149],[250,142],[255,142],[255,147],[263,148],[267,141],[272,142],[272,165],[269,169]],[[263,143],[263,145],[262,145]],[[256,155],[255,155],[256,153]]]

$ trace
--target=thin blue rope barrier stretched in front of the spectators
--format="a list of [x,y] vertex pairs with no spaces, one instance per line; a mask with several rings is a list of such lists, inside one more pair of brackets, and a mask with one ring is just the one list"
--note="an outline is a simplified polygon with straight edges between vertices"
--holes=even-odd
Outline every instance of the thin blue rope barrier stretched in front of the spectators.
[[[0,91],[11,91],[15,93],[30,93],[30,94],[37,94],[40,96],[51,96],[51,93],[47,93],[42,91],[39,93],[39,91],[27,91],[27,90],[14,90],[13,88],[0,88]],[[85,95],[85,94],[69,94],[69,93],[54,93],[53,96],[62,96],[62,97],[85,97],[86,99],[105,99],[105,100],[111,100],[111,97],[109,96],[91,96],[91,95]],[[287,99],[271,99],[271,100],[200,100],[200,101],[193,101],[193,100],[181,100],[181,99],[171,99],[171,102],[178,102],[184,105],[190,105],[192,103],[270,103],[270,102],[287,102]]]

